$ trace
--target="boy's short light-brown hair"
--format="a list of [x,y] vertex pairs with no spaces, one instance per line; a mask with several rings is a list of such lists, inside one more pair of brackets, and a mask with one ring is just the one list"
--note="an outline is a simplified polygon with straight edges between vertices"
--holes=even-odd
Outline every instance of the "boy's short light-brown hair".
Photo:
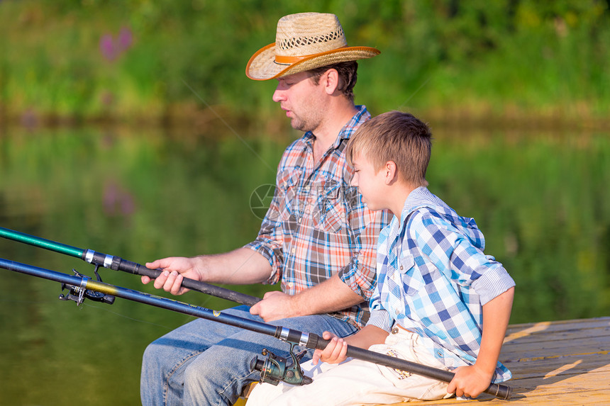
[[414,186],[428,186],[432,133],[414,115],[390,111],[371,118],[350,137],[345,157],[350,165],[363,154],[375,171],[388,161],[397,166],[398,179]]

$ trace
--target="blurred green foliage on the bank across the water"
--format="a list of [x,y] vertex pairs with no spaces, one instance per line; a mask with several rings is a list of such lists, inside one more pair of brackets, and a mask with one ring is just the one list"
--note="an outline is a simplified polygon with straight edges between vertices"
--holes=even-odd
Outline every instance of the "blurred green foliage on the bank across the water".
[[[362,61],[357,101],[372,111],[555,111],[609,107],[610,13],[600,0],[2,1],[0,105],[76,118],[160,118],[186,106],[269,117],[272,84],[245,64],[287,13],[338,14]],[[113,60],[104,35],[128,28]],[[263,102],[264,101],[264,102]]]

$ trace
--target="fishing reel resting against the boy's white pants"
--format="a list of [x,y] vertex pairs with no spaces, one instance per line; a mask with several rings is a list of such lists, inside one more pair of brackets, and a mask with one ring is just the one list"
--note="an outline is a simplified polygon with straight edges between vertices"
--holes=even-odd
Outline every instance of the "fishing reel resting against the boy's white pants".
[[262,350],[262,355],[266,359],[255,358],[250,362],[250,371],[260,371],[260,383],[271,383],[277,385],[280,381],[291,385],[306,385],[313,382],[309,376],[305,376],[299,361],[303,358],[306,351],[294,354],[296,344],[290,344],[290,359],[273,354],[267,349]]

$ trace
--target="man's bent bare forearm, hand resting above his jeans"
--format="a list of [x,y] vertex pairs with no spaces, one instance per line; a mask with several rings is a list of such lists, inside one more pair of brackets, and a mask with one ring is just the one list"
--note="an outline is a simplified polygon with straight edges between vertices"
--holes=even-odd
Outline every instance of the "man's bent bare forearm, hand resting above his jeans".
[[265,322],[270,322],[286,317],[336,312],[363,301],[362,296],[345,285],[339,276],[333,275],[326,281],[296,295],[291,296],[277,291],[267,292],[262,301],[250,308],[250,313],[259,315]]

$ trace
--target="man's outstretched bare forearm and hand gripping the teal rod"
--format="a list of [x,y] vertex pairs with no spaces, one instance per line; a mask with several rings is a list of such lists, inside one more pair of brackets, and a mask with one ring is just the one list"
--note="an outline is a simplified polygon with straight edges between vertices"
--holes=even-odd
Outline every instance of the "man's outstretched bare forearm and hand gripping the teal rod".
[[[155,279],[154,286],[174,295],[182,295],[188,291],[180,286],[183,278],[209,283],[247,285],[266,281],[271,274],[271,265],[265,256],[249,248],[191,258],[170,256],[149,262],[146,266],[163,270]],[[148,276],[142,276],[142,283],[149,282]]]

